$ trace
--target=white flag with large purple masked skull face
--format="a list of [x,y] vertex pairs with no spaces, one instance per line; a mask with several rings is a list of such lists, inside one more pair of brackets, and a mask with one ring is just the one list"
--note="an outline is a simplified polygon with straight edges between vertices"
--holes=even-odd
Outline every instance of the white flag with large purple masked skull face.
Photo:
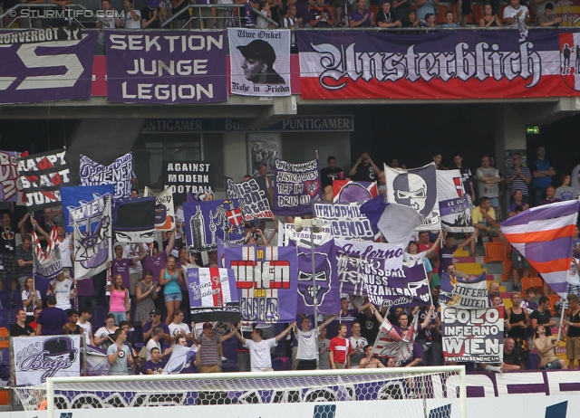
[[384,166],[387,201],[411,206],[425,216],[416,231],[441,229],[436,171],[434,163],[411,170]]

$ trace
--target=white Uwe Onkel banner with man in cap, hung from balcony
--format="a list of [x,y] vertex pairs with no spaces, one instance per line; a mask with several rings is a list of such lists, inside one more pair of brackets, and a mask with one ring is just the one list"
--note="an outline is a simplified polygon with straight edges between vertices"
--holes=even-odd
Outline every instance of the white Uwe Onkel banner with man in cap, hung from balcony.
[[290,96],[290,31],[230,28],[227,39],[233,94]]

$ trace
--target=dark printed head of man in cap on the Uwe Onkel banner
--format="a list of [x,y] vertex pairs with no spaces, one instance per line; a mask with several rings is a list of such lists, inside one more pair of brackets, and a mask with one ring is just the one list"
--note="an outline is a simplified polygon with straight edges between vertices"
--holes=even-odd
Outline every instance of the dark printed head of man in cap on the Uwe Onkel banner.
[[285,84],[284,79],[274,70],[275,51],[272,45],[256,39],[237,49],[245,58],[242,70],[247,81],[255,84]]

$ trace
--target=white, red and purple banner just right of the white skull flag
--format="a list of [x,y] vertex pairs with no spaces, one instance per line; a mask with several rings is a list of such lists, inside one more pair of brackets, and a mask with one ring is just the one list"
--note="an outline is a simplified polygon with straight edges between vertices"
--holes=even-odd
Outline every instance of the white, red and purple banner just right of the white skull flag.
[[459,170],[437,170],[441,228],[449,233],[472,233],[473,221]]

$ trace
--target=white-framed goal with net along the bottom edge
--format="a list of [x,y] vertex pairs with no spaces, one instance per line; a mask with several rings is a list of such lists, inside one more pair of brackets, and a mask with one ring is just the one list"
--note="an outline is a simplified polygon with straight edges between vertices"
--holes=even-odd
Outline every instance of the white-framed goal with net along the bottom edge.
[[55,377],[43,385],[14,390],[24,410],[39,418],[44,414],[62,417],[63,412],[79,409],[87,410],[83,417],[112,418],[111,413],[129,412],[116,408],[134,407],[141,408],[140,418],[157,418],[159,410],[147,409],[155,406],[174,406],[175,416],[185,416],[182,409],[190,414],[193,405],[196,412],[203,410],[213,416],[338,418],[363,413],[380,417],[397,411],[395,416],[401,417],[463,418],[467,416],[465,381],[463,366],[439,366]]

